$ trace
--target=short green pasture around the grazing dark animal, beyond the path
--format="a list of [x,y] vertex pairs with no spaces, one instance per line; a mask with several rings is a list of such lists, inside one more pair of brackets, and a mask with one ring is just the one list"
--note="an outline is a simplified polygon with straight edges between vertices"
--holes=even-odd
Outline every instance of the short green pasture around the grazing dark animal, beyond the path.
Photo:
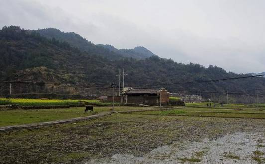
[[[0,111],[0,126],[21,125],[75,117],[85,117],[91,114],[111,111],[112,107],[94,107],[94,112],[84,112],[85,107],[39,110],[2,110]],[[145,110],[146,107],[118,106],[115,111]]]

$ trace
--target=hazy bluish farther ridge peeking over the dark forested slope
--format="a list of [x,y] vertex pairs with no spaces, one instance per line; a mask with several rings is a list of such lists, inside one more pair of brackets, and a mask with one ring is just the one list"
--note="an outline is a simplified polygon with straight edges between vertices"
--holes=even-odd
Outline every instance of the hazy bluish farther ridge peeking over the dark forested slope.
[[41,36],[48,39],[55,38],[59,41],[65,41],[73,47],[77,47],[81,51],[86,51],[88,53],[93,53],[96,55],[104,56],[109,59],[121,59],[121,58],[135,58],[144,59],[153,56],[151,51],[144,47],[135,47],[134,49],[122,49],[118,50],[112,45],[95,45],[87,39],[81,37],[74,32],[61,32],[55,28],[45,28],[36,30]]

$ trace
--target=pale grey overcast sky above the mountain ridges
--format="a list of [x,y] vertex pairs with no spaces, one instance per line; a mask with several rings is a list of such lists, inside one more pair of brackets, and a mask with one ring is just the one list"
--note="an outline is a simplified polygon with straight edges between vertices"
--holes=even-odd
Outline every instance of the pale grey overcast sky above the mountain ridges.
[[54,27],[176,62],[265,71],[265,0],[0,0],[0,27]]

